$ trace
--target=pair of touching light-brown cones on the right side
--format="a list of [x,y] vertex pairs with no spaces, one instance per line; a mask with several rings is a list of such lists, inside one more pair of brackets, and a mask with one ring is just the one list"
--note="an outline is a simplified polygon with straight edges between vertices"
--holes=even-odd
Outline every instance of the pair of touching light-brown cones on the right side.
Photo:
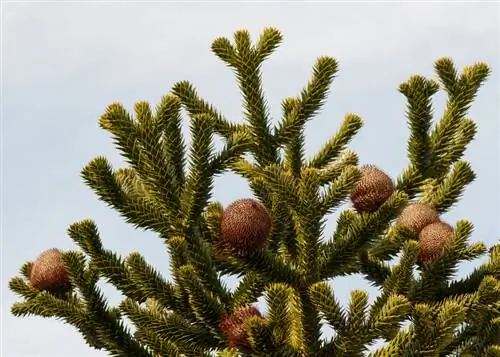
[[449,246],[453,233],[453,228],[441,221],[438,212],[423,203],[406,206],[398,216],[396,226],[405,227],[418,234],[418,260],[422,264],[436,260]]

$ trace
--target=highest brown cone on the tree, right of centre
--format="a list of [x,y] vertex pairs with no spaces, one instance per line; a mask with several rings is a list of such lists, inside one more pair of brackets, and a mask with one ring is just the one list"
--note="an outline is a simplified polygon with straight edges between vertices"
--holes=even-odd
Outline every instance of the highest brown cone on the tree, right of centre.
[[394,182],[374,165],[363,165],[359,171],[361,178],[350,194],[352,206],[359,213],[375,212],[394,192]]

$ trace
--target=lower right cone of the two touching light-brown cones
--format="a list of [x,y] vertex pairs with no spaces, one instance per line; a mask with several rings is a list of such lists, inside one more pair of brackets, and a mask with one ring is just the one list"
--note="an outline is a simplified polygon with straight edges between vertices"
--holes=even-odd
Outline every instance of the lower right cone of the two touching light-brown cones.
[[419,262],[427,265],[435,261],[450,245],[452,234],[453,227],[445,222],[436,222],[425,226],[418,236]]

